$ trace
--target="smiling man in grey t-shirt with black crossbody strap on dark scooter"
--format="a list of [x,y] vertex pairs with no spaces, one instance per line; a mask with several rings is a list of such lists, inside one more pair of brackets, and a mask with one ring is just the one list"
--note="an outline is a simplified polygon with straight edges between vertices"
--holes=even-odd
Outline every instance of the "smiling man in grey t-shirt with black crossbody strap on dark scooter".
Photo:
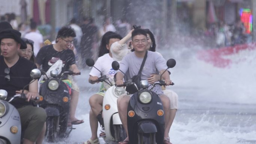
[[[132,32],[132,46],[135,49],[135,52],[129,53],[126,55],[121,63],[120,63],[120,70],[126,73],[129,68],[129,74],[130,77],[133,77],[138,74],[140,65],[142,63],[142,60],[144,58],[144,55],[146,53],[146,47],[147,47],[147,34],[142,29],[135,29]],[[143,70],[141,72],[141,80],[147,80],[147,78],[154,73],[157,73],[158,70],[161,74],[165,71],[167,67],[165,66],[165,60],[159,56],[157,53],[153,53],[148,51],[147,59],[144,64]],[[123,85],[123,78],[124,75],[121,72],[117,73],[116,76],[116,85]],[[167,71],[165,71],[162,74],[162,78],[165,80],[166,85],[170,85],[171,80],[169,77],[169,74]],[[162,100],[162,104],[165,111],[165,122],[168,121],[168,114],[170,111],[170,100],[169,98],[163,94],[161,86],[156,86],[153,91],[158,94]],[[129,102],[130,96],[120,96],[118,99],[118,108],[119,108],[119,116],[121,118],[121,121],[124,125],[124,128],[126,129],[127,135],[127,106]],[[170,142],[167,140],[168,134],[166,134],[167,130],[165,129],[165,144],[170,144]],[[121,142],[121,144],[128,144],[129,138],[127,137],[125,141]]]

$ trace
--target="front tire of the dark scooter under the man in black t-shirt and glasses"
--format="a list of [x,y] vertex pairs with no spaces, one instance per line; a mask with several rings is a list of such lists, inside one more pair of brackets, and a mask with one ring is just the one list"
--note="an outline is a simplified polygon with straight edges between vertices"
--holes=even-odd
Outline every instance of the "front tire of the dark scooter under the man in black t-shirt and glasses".
[[48,117],[46,120],[46,139],[48,143],[54,143],[57,139],[57,123],[58,117]]

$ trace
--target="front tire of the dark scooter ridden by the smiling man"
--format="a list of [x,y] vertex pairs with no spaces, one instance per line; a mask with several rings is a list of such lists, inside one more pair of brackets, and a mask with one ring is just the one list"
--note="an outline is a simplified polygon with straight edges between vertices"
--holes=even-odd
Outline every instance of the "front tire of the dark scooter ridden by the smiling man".
[[138,144],[156,144],[156,133],[138,134]]

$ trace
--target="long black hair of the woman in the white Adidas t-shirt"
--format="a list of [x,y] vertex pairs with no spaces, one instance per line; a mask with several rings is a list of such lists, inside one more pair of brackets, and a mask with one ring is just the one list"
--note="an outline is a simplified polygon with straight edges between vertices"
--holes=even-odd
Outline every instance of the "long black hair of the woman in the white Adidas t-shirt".
[[110,39],[120,39],[121,40],[122,37],[119,34],[114,33],[112,31],[108,31],[107,33],[105,33],[101,38],[100,50],[99,50],[98,57],[103,56],[106,53],[109,53],[109,50],[106,48],[106,45],[109,44]]

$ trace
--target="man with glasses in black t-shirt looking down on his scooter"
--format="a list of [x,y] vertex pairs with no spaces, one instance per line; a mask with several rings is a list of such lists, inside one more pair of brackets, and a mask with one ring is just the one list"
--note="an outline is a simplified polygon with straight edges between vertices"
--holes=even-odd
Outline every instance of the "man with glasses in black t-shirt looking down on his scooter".
[[[69,48],[73,45],[73,38],[76,37],[76,33],[71,27],[62,27],[57,34],[56,44],[43,46],[36,56],[37,67],[42,65],[44,71],[48,71],[49,68],[57,62],[59,59],[63,61],[61,72],[73,71],[79,73],[79,69],[76,65],[76,58],[72,50]],[[72,82],[72,93],[70,99],[70,117],[68,126],[78,125],[83,123],[83,120],[75,118],[76,107],[78,103],[79,88],[73,81],[71,76],[68,79]]]

